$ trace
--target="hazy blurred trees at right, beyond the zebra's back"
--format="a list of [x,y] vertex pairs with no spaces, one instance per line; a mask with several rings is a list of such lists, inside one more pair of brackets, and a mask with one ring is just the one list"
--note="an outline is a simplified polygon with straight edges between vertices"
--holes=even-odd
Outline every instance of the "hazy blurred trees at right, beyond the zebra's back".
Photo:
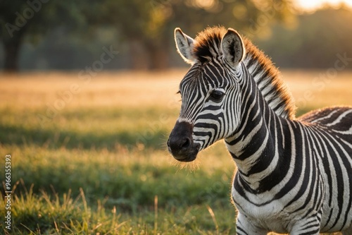
[[334,68],[346,57],[346,68],[352,68],[352,10],[322,8],[297,18],[294,30],[280,25],[272,27],[272,36],[256,43],[283,68]]

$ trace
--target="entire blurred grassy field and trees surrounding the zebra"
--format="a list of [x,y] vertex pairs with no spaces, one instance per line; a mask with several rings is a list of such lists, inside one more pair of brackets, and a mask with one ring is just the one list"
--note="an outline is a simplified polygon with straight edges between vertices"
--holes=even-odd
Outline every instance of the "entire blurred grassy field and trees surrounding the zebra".
[[351,0],[0,0],[0,25],[0,234],[235,233],[223,141],[191,164],[167,151],[176,27],[251,39],[296,116],[352,105]]

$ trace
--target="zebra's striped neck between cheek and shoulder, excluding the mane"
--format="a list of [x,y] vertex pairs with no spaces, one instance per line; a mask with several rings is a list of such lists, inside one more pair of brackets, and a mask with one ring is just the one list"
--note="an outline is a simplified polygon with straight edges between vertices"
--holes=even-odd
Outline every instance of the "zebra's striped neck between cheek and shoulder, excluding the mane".
[[[248,73],[246,69],[244,71]],[[266,181],[275,177],[279,164],[284,164],[279,158],[284,152],[285,141],[289,141],[282,139],[281,134],[286,131],[286,125],[283,125],[284,119],[269,107],[253,78],[244,79],[241,87],[242,119],[236,133],[225,143],[237,164],[242,184],[249,191],[268,191],[271,183]]]

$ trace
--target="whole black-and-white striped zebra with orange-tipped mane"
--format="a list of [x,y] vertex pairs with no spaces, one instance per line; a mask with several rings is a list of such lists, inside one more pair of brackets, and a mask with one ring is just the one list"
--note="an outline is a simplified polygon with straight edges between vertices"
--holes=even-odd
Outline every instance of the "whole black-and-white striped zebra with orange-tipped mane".
[[[271,61],[239,33],[175,29],[191,68],[180,82],[180,116],[168,150],[181,162],[225,139],[237,170],[237,234],[352,234],[352,107],[294,116]],[[274,71],[274,73],[271,73]]]

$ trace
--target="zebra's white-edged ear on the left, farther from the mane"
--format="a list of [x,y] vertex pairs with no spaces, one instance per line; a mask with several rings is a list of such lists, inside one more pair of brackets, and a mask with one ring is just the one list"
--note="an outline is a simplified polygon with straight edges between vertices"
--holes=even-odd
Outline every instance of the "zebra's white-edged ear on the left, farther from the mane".
[[175,28],[175,42],[177,52],[187,64],[194,64],[196,59],[192,56],[194,40],[188,35],[184,34],[180,28]]

